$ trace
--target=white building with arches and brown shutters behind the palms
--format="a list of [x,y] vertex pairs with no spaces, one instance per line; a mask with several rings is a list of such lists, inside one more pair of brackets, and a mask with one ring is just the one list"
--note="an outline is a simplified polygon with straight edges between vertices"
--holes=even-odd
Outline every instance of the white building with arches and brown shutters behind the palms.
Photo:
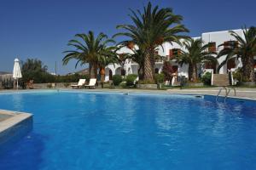
[[[233,30],[235,31],[239,36],[243,37],[243,33],[242,30]],[[214,32],[206,32],[206,33],[202,33],[201,37],[194,37],[194,38],[201,38],[202,41],[207,44],[207,43],[211,43],[212,44],[212,48],[211,50],[216,51],[217,53],[224,47],[218,48],[218,45],[222,44],[222,43],[226,43],[225,46],[230,46],[230,43],[232,44],[236,44],[236,39],[234,37],[232,37],[230,35],[229,31],[214,31]],[[188,77],[188,70],[189,70],[189,65],[178,65],[177,62],[175,62],[175,60],[172,60],[172,54],[174,53],[175,50],[178,49],[183,49],[183,47],[181,47],[180,45],[178,45],[177,43],[169,43],[166,42],[163,44],[163,49],[159,48],[158,50],[158,54],[160,54],[160,56],[166,57],[167,60],[170,59],[173,69],[175,71],[177,71],[178,76],[185,76]],[[121,48],[118,51],[119,54],[123,54],[123,53],[132,53],[131,49],[129,48]],[[225,56],[222,56],[221,58],[218,59],[218,62],[215,64],[207,64],[205,65],[204,70],[207,69],[212,69],[214,72],[216,72],[218,65],[220,65],[220,63],[222,63],[222,61],[224,61]],[[255,61],[255,71],[256,71],[256,56],[254,57],[254,61]],[[163,68],[163,60],[158,60],[157,62],[155,62],[155,72],[160,73],[162,71]],[[222,66],[219,70],[219,74],[225,74],[228,72],[228,70],[236,70],[238,67],[241,67],[241,60],[239,59],[230,59],[228,61],[227,64],[225,64],[224,66]],[[138,70],[138,65],[135,62],[132,61],[125,61],[125,65],[108,65],[106,67],[106,71],[105,71],[105,81],[111,80],[113,75],[129,75],[129,74],[137,74],[137,70]]]

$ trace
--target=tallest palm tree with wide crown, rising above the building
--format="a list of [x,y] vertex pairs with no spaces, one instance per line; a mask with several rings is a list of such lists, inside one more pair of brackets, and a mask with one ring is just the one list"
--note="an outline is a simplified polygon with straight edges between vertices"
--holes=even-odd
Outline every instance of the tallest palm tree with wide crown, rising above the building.
[[188,29],[180,24],[183,17],[173,14],[172,8],[153,8],[151,3],[143,8],[143,12],[131,10],[130,18],[133,24],[117,26],[124,31],[114,37],[128,37],[119,44],[128,48],[137,46],[143,51],[143,79],[154,82],[154,51],[164,42],[180,43],[179,40],[186,37],[179,33],[188,32]]

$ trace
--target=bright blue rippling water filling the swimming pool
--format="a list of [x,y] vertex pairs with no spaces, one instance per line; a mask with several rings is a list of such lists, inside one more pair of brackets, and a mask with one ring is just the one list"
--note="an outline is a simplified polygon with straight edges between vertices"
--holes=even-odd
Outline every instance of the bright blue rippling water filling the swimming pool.
[[52,91],[0,94],[0,108],[34,114],[1,170],[256,169],[253,102]]

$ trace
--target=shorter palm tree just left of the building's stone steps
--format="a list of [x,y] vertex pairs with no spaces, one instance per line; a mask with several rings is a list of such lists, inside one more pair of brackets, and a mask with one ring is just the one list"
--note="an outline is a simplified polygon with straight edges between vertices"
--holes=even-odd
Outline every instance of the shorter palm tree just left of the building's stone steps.
[[209,51],[210,44],[203,45],[201,39],[186,40],[183,42],[183,47],[185,50],[181,50],[180,54],[176,54],[173,59],[177,59],[180,65],[189,65],[189,80],[195,82],[198,79],[197,66],[209,61],[215,62],[217,54]]

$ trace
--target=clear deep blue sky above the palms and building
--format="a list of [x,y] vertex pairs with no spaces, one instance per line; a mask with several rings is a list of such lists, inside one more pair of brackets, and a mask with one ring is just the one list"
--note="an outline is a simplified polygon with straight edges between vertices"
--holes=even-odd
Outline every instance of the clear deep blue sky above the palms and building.
[[[255,0],[152,0],[183,15],[189,35],[256,25]],[[129,23],[129,8],[143,8],[147,0],[0,0],[0,71],[12,71],[15,57],[38,58],[49,71],[75,71],[74,62],[62,66],[62,52],[76,33],[103,31]],[[80,70],[81,68],[77,69]]]

